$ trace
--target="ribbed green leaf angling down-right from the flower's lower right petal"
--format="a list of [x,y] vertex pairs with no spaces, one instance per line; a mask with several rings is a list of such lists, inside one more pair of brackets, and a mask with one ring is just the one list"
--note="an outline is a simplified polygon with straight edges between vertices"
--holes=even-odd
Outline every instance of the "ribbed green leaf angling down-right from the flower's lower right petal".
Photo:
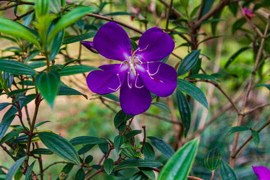
[[177,78],[176,87],[196,99],[199,103],[201,103],[204,107],[208,109],[207,99],[204,93],[197,86],[195,86],[191,82]]

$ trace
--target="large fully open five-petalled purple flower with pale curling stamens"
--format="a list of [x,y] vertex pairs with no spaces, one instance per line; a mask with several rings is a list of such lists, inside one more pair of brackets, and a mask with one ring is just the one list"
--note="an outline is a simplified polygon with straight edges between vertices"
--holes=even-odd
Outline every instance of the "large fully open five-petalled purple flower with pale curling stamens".
[[102,25],[93,38],[94,48],[118,64],[101,65],[91,71],[86,82],[92,92],[111,93],[120,88],[120,105],[126,114],[139,114],[151,104],[150,91],[158,96],[170,95],[177,84],[176,70],[159,60],[174,48],[172,38],[157,27],[146,30],[138,47],[131,51],[129,37],[115,22]]

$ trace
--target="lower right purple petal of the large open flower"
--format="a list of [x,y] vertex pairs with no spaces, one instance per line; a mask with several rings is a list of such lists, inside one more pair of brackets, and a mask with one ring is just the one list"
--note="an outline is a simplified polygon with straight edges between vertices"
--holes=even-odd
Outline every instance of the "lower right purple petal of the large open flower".
[[146,88],[158,96],[166,97],[172,94],[177,85],[177,72],[166,63],[143,63],[138,65],[138,72]]

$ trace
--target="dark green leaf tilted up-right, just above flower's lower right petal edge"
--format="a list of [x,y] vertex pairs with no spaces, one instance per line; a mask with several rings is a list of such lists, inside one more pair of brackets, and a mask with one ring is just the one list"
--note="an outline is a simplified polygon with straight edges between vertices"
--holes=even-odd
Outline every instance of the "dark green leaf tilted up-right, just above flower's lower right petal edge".
[[186,72],[188,72],[197,63],[199,53],[200,49],[193,50],[190,53],[188,53],[181,61],[177,70],[177,74],[183,75]]

